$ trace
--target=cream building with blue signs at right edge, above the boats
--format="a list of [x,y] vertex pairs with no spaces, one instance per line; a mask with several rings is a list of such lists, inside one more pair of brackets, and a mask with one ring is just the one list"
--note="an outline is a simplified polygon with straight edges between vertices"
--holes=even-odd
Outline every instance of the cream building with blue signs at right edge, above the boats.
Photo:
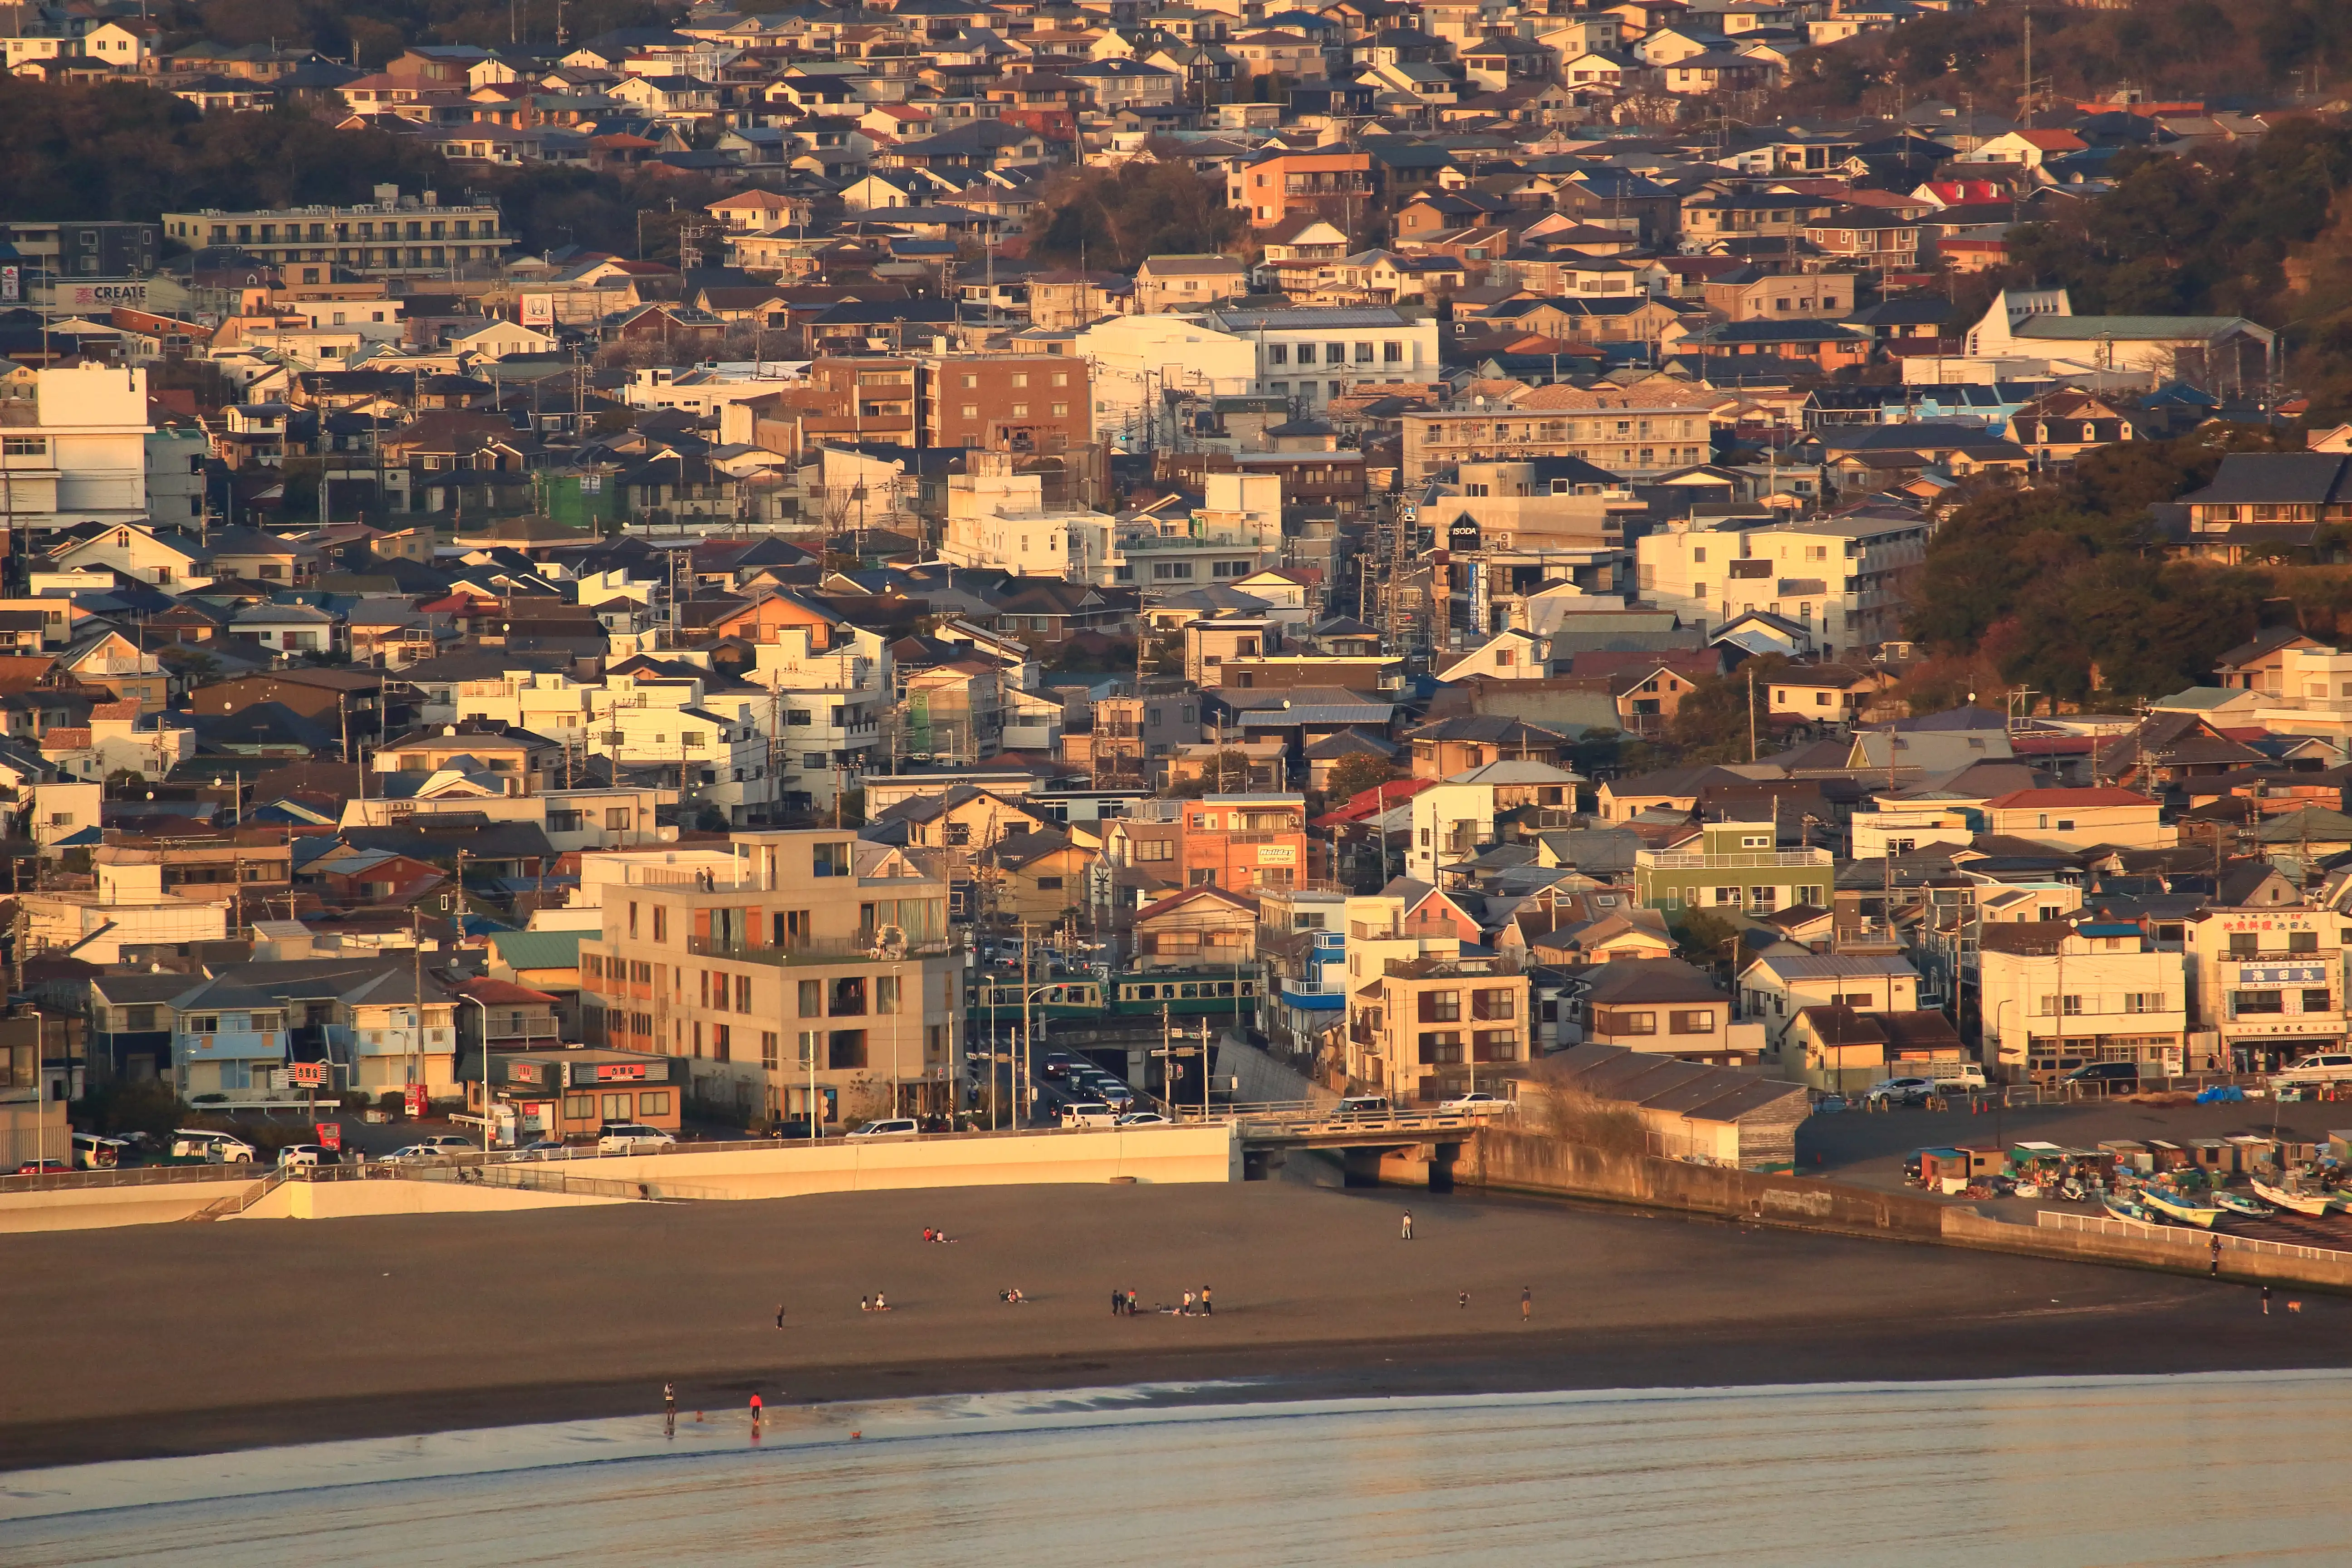
[[2183,959],[2194,1013],[2190,1067],[2281,1067],[2345,1041],[2352,914],[2307,905],[2204,910]]

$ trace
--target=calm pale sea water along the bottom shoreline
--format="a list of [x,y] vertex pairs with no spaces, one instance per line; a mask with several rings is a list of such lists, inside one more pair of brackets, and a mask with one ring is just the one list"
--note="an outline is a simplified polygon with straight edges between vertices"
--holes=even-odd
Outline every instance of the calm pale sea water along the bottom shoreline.
[[[0,1563],[2345,1563],[2352,1373],[776,1408],[0,1476]],[[1265,1394],[1265,1396],[1261,1396]]]

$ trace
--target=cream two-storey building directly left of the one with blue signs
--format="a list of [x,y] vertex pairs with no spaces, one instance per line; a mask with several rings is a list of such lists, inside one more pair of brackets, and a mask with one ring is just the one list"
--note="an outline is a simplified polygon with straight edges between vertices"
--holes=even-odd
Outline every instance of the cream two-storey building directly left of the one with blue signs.
[[2084,1063],[2183,1070],[2183,954],[2140,926],[2018,922],[1978,931],[1978,1027],[1985,1077],[2051,1081]]

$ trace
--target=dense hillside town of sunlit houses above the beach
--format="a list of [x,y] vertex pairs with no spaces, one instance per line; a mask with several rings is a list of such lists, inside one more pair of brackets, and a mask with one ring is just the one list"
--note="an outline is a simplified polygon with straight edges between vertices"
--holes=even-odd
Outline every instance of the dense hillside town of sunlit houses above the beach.
[[409,176],[0,219],[9,1159],[1025,1117],[1037,976],[1399,1105],[2340,1044],[2352,437],[2037,273],[2340,106],[1799,106],[1964,14],[19,7]]

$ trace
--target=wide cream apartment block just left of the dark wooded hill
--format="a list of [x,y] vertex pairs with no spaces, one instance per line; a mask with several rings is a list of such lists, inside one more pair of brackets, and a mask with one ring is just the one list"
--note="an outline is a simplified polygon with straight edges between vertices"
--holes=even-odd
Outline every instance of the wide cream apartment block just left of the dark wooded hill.
[[1642,602],[1717,628],[1769,611],[1809,628],[1825,658],[1903,635],[1903,597],[1933,524],[1924,517],[1809,517],[1762,529],[1670,527],[1635,543]]

